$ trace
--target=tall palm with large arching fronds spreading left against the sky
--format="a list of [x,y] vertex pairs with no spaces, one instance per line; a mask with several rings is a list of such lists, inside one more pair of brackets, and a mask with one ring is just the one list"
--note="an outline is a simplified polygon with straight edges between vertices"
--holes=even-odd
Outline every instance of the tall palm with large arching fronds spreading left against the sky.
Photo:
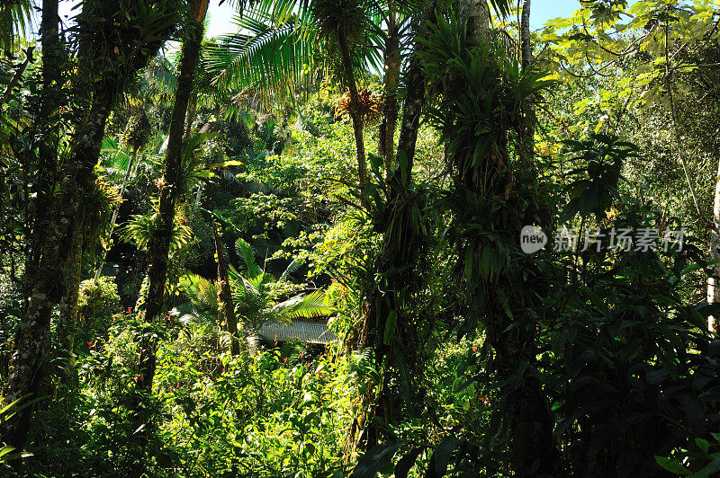
[[408,46],[413,19],[401,4],[391,0],[261,0],[238,17],[240,33],[224,37],[208,50],[214,82],[238,92],[238,97],[251,100],[254,106],[269,108],[273,102],[294,104],[298,95],[316,89],[323,75],[339,70],[348,89],[362,188],[367,173],[356,71],[366,65],[385,75],[378,154],[385,160],[387,177],[400,108],[401,51]]

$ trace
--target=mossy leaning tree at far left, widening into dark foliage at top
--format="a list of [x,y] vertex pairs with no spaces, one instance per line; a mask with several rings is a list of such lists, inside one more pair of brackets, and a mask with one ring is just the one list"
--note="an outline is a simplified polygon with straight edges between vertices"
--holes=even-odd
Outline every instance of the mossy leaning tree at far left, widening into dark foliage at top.
[[[53,196],[45,203],[46,208],[35,212],[31,267],[25,276],[29,298],[15,338],[7,401],[40,392],[49,349],[50,315],[53,306],[70,293],[63,279],[68,258],[76,255],[72,244],[82,226],[83,205],[94,189],[93,170],[105,123],[127,84],[174,31],[176,4],[176,0],[129,4],[86,1],[77,17],[79,75],[72,100],[78,126],[70,141],[69,157],[49,189]],[[56,4],[50,2],[48,6],[55,9]],[[49,17],[53,15],[57,17],[57,11],[48,13],[45,31],[52,30]],[[106,21],[96,22],[96,18]],[[110,40],[96,41],[99,37]],[[56,41],[53,35],[46,40]],[[31,413],[32,407],[26,407],[3,423],[5,442],[18,449],[24,446]]]

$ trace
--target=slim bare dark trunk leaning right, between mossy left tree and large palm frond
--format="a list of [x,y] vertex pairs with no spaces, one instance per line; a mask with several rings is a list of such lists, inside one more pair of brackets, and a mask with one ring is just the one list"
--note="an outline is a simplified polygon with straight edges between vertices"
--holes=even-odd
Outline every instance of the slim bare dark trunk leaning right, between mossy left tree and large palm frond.
[[[163,310],[167,265],[169,261],[170,241],[175,222],[175,203],[178,190],[178,175],[183,157],[183,133],[185,116],[193,93],[195,67],[200,58],[200,42],[202,40],[202,21],[207,13],[208,0],[195,0],[190,8],[193,18],[183,41],[183,52],[180,58],[180,70],[177,77],[175,106],[170,120],[167,153],[163,164],[163,187],[160,190],[157,208],[157,223],[154,234],[148,242],[148,297],[145,301],[145,317],[148,322],[157,322]],[[143,339],[140,342],[138,389],[149,392],[156,369],[156,341]]]

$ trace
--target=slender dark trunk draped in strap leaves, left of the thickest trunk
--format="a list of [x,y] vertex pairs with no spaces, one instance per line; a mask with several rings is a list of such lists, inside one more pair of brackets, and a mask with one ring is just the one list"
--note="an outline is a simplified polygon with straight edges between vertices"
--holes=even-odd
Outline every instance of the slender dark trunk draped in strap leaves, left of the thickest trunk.
[[[419,18],[418,36],[428,33],[430,22],[435,20],[437,0],[427,0]],[[376,369],[388,370],[381,377],[378,398],[368,394],[363,398],[366,409],[365,418],[354,422],[347,434],[347,450],[369,448],[383,440],[383,430],[397,420],[397,408],[392,403],[389,390],[390,373],[398,371],[399,380],[403,380],[400,368],[410,370],[405,376],[419,373],[417,359],[417,341],[406,313],[411,295],[417,288],[419,278],[416,267],[421,261],[423,238],[418,224],[412,220],[415,198],[404,197],[412,181],[412,165],[418,140],[420,112],[425,101],[425,75],[417,51],[422,44],[416,41],[416,53],[410,60],[410,69],[406,80],[406,98],[402,109],[401,133],[398,138],[398,151],[395,162],[397,169],[389,181],[388,207],[385,211],[375,211],[375,229],[382,230],[383,243],[380,256],[375,263],[374,276],[385,283],[381,288],[373,285],[365,297],[363,307],[364,323],[360,334],[360,344],[364,348],[374,349]],[[388,323],[389,320],[394,323]],[[399,364],[402,364],[399,367]],[[415,364],[415,365],[413,365]],[[386,367],[389,365],[389,367]],[[420,394],[417,386],[405,384],[412,394]],[[413,407],[414,397],[405,397],[408,409]]]

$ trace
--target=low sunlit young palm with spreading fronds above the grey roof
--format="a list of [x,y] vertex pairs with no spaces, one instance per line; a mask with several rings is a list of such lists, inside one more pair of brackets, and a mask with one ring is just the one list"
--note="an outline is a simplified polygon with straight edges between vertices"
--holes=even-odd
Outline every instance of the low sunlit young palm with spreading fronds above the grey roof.
[[[235,243],[242,260],[238,269],[229,266],[230,287],[235,313],[248,336],[256,336],[266,323],[292,323],[297,318],[312,318],[331,314],[325,293],[315,290],[309,294],[295,294],[282,300],[293,289],[289,275],[297,270],[293,261],[279,278],[256,263],[250,244],[240,238]],[[190,300],[178,307],[181,316],[191,320],[209,322],[218,320],[220,286],[216,281],[188,274],[180,279],[180,289]]]

